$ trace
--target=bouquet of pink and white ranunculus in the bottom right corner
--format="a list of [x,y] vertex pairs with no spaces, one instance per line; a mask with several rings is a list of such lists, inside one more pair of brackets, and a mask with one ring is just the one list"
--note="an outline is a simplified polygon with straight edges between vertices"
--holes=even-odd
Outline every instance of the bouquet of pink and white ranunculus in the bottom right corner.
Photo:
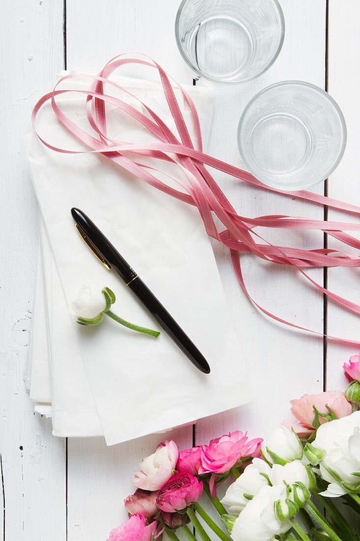
[[[360,513],[360,355],[344,371],[345,393],[292,400],[295,419],[266,441],[236,431],[180,452],[161,443],[133,478],[129,520],[108,541],[177,541],[179,531],[192,541],[359,540],[343,510]],[[203,493],[220,525],[200,505]]]

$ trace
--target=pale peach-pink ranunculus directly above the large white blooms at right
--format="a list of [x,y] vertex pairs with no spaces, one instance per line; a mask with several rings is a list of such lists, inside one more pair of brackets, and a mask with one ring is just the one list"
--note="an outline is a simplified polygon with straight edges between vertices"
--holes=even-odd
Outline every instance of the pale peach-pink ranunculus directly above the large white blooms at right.
[[[300,438],[307,438],[315,431],[314,426],[312,426],[315,418],[314,406],[319,413],[329,414],[329,410],[326,408],[326,405],[328,405],[339,419],[350,415],[352,412],[351,404],[349,404],[341,391],[304,394],[298,400],[290,400],[290,404],[291,413],[297,420],[293,422],[286,419],[283,421],[283,425],[290,428],[290,430],[294,428]],[[326,419],[319,415],[319,423],[321,425],[326,423]]]

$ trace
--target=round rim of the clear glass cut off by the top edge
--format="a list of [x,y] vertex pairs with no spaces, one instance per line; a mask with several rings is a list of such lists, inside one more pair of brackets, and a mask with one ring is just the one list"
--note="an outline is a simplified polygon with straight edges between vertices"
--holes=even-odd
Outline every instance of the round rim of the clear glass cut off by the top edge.
[[280,51],[281,51],[281,49],[283,47],[284,36],[285,36],[285,17],[284,17],[284,13],[283,13],[283,10],[281,8],[281,5],[280,5],[278,0],[270,0],[270,1],[276,7],[276,9],[278,11],[278,14],[279,14],[279,17],[280,17],[281,36],[280,36],[279,43],[278,43],[277,49],[275,51],[275,54],[271,57],[270,62],[268,62],[261,71],[259,71],[255,75],[252,75],[251,77],[247,77],[246,79],[242,79],[241,81],[224,81],[224,80],[221,80],[221,79],[210,77],[209,75],[205,75],[205,74],[203,74],[202,71],[200,71],[199,69],[196,68],[196,66],[189,60],[188,56],[185,54],[185,51],[184,51],[184,49],[182,47],[182,44],[181,44],[181,39],[180,39],[180,36],[179,36],[179,32],[178,32],[179,18],[180,18],[181,14],[182,14],[182,12],[184,10],[185,5],[187,3],[189,3],[189,2],[191,2],[191,0],[182,0],[181,4],[178,7],[178,10],[177,10],[177,13],[176,13],[176,18],[175,18],[175,39],[176,39],[177,48],[178,48],[183,60],[186,62],[186,64],[188,64],[189,68],[192,71],[195,71],[195,73],[199,77],[202,77],[206,81],[210,81],[211,83],[215,83],[215,84],[219,84],[219,85],[221,85],[221,84],[224,84],[224,85],[242,84],[242,83],[246,83],[248,81],[252,81],[253,79],[256,79],[256,77],[259,77],[259,76],[263,75],[265,73],[265,71],[267,71],[269,68],[271,68],[272,64],[274,64],[274,62],[276,61],[276,58],[279,56],[279,53],[280,53]]

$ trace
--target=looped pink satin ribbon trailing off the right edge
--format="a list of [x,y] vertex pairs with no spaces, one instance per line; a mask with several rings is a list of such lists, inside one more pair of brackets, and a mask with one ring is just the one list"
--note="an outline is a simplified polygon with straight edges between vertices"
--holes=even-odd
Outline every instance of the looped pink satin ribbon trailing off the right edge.
[[[138,54],[136,53],[136,55]],[[270,190],[271,192],[276,192],[282,195],[288,195],[293,198],[296,197],[297,199],[303,199],[312,203],[327,205],[332,208],[344,210],[345,212],[360,215],[360,207],[350,203],[337,201],[331,199],[330,197],[325,197],[324,195],[306,192],[304,190],[300,192],[281,192],[274,188],[265,186],[265,184],[259,182],[254,176],[246,171],[243,171],[242,169],[238,169],[237,167],[231,166],[230,164],[222,162],[221,160],[217,160],[208,154],[204,154],[202,150],[199,118],[195,104],[191,100],[189,94],[186,93],[181,85],[173,79],[176,86],[182,91],[182,94],[189,105],[196,134],[196,148],[191,141],[188,128],[186,127],[183,115],[179,109],[179,105],[174,94],[174,90],[172,89],[166,72],[161,68],[161,66],[159,66],[159,64],[148,56],[141,55],[145,57],[146,60],[140,60],[139,58],[126,58],[126,56],[127,55],[119,55],[112,58],[96,77],[88,74],[74,74],[62,77],[55,85],[54,90],[43,96],[41,100],[37,102],[34,110],[32,111],[32,124],[36,131],[35,120],[38,111],[45,102],[51,100],[52,109],[54,110],[58,120],[65,128],[74,134],[78,140],[90,147],[91,150],[78,151],[55,147],[49,142],[45,141],[36,131],[39,140],[42,141],[46,147],[59,153],[82,154],[84,152],[90,152],[104,154],[111,160],[118,163],[124,169],[130,171],[130,173],[151,184],[151,186],[154,186],[172,197],[176,197],[176,199],[196,206],[204,222],[206,233],[210,237],[222,242],[230,249],[232,265],[234,266],[237,279],[244,293],[261,312],[268,315],[270,318],[279,321],[282,324],[323,336],[323,333],[321,332],[312,331],[311,329],[278,318],[276,315],[261,307],[250,296],[248,290],[246,289],[241,271],[241,253],[253,253],[266,261],[272,261],[274,263],[278,263],[279,265],[291,265],[295,267],[298,272],[309,280],[319,291],[349,311],[360,315],[359,305],[351,302],[350,300],[346,300],[335,293],[332,293],[328,289],[325,289],[315,280],[312,280],[310,276],[308,276],[302,270],[302,267],[359,267],[360,256],[352,255],[346,252],[339,252],[339,250],[331,250],[329,248],[304,250],[285,246],[274,246],[270,242],[265,241],[258,233],[255,232],[255,228],[259,226],[282,229],[315,229],[327,233],[335,239],[343,242],[344,245],[360,249],[360,241],[348,233],[345,233],[345,231],[360,231],[360,225],[357,223],[310,220],[286,215],[267,215],[259,216],[257,218],[239,216],[231,206],[229,200],[226,199],[222,190],[219,188],[209,171],[205,169],[205,166],[223,171],[236,179],[254,184],[261,189]],[[166,126],[161,118],[159,118],[156,113],[148,107],[148,105],[139,100],[139,98],[137,98],[134,94],[108,78],[115,69],[125,64],[142,64],[155,68],[158,71],[166,101],[168,102],[172,118],[174,118],[180,140],[178,140],[178,136],[172,133],[168,126]],[[62,81],[72,77],[90,78],[92,82],[89,90],[57,90],[58,85]],[[118,98],[104,94],[104,83],[110,84],[112,87],[122,90],[129,96],[136,98],[136,100],[138,100],[143,108],[147,111],[149,116],[140,113],[137,109],[131,107],[131,105],[119,100]],[[91,129],[96,132],[98,138],[79,128],[61,111],[61,109],[59,109],[55,100],[56,96],[69,92],[76,92],[78,94],[86,95],[86,115],[88,117]],[[93,110],[94,108],[92,107],[93,101],[95,103],[95,114]],[[135,118],[135,120],[154,134],[158,138],[159,142],[150,144],[134,144],[110,138],[106,134],[105,103],[109,103]],[[138,161],[137,157],[134,156],[134,154],[138,156],[139,159],[141,159],[141,156],[149,156],[157,160],[176,163],[177,166],[180,167],[185,173],[188,183],[171,175],[165,176],[168,176],[169,179],[172,179],[179,184],[184,191],[171,188],[167,184],[157,179],[156,176],[151,173],[151,171],[161,171],[161,168],[155,169],[149,165],[141,163]],[[171,157],[169,154],[174,155],[174,157]],[[132,158],[130,157],[131,155],[133,156]],[[164,175],[164,173],[162,174]],[[218,217],[225,227],[225,229],[221,232],[215,225],[213,214]],[[255,242],[254,238],[259,241],[263,241],[263,243]],[[346,340],[331,337],[329,335],[326,336],[343,344],[360,345],[359,341]]]

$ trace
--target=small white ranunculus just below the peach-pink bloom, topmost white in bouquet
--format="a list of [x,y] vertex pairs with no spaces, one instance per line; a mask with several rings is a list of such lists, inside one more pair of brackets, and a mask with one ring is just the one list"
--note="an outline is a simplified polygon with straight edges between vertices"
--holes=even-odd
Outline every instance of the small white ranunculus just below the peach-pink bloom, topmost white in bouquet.
[[282,425],[275,428],[269,438],[261,444],[263,456],[271,464],[274,464],[274,460],[268,451],[266,451],[266,448],[272,453],[277,454],[278,457],[286,460],[286,462],[301,459],[303,456],[303,448],[296,434]]

